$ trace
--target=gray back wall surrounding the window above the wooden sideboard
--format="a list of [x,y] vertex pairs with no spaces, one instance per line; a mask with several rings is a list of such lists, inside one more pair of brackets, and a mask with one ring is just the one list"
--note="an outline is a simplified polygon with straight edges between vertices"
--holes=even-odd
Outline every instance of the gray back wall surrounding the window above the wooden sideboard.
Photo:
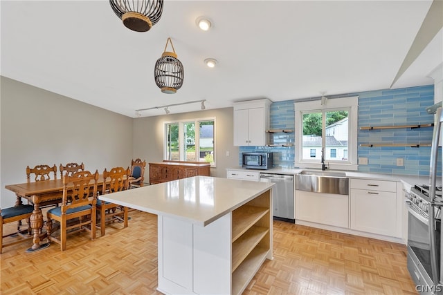
[[[210,175],[226,178],[226,168],[238,166],[239,147],[233,146],[233,108],[134,119],[134,158],[145,159],[148,163],[163,160],[164,122],[208,117],[215,117],[215,163],[217,165],[211,168]],[[229,152],[228,156],[226,152]],[[148,181],[148,176],[149,173],[145,173],[145,182]]]

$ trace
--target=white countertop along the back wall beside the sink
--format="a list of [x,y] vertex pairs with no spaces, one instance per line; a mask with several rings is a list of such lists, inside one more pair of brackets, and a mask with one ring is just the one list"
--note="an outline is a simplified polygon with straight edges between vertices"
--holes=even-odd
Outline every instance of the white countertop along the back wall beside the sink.
[[[287,175],[295,175],[300,173],[303,170],[318,170],[319,169],[299,169],[299,168],[281,168],[276,167],[268,170],[260,170],[260,169],[244,169],[241,166],[228,168],[227,170],[237,170],[237,171],[256,171],[259,173],[278,173],[278,174],[287,174]],[[326,171],[338,171],[338,170],[326,170]],[[392,175],[392,174],[382,174],[382,173],[364,173],[358,171],[341,171],[345,172],[347,178],[364,178],[364,179],[374,179],[374,180],[390,180],[390,181],[398,181],[403,184],[409,184],[414,186],[415,184],[429,184],[429,176],[418,176],[418,175]],[[437,185],[441,185],[442,178],[437,177]]]

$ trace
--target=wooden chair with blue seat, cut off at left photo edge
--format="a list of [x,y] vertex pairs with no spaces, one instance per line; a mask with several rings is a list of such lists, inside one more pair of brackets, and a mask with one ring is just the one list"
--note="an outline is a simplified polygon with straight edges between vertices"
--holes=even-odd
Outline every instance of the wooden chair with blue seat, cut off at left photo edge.
[[[9,208],[0,208],[0,254],[3,250],[3,247],[8,247],[15,245],[19,242],[24,242],[25,240],[31,240],[33,238],[32,231],[30,228],[30,216],[33,213],[34,206],[30,204],[19,204],[15,207],[9,207]],[[21,220],[26,220],[28,223],[28,229],[25,231],[20,230],[21,226]],[[11,234],[4,234],[3,233],[3,225],[6,225],[10,222],[19,221],[19,225],[17,226],[17,231],[12,232]],[[10,242],[3,243],[3,238],[11,237],[11,236],[17,236],[16,238],[13,238]],[[12,238],[12,237],[11,237]]]

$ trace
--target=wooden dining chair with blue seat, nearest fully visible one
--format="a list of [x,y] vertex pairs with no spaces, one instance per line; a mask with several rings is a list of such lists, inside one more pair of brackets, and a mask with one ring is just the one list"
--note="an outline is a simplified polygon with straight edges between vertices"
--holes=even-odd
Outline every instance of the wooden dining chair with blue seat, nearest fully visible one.
[[[80,231],[89,231],[91,240],[96,238],[96,202],[98,171],[74,172],[63,176],[63,200],[60,207],[46,213],[48,242],[57,242],[66,250],[66,237]],[[60,235],[53,232],[53,220],[60,223]]]

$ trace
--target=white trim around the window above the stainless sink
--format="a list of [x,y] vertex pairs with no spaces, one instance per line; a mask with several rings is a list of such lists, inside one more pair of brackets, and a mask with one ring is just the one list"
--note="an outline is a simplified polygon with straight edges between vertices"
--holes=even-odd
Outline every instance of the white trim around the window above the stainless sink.
[[[306,112],[314,111],[348,111],[348,144],[347,144],[347,162],[341,161],[331,161],[329,162],[328,169],[337,170],[350,170],[356,171],[358,169],[357,164],[357,135],[358,135],[358,113],[359,113],[359,97],[338,97],[330,98],[327,100],[326,104],[322,105],[320,100],[311,100],[305,102],[294,102],[295,110],[295,138],[296,138],[296,160],[295,165],[305,169],[321,169],[320,160],[309,160],[302,159],[302,140],[303,140],[303,124],[302,124],[302,114]],[[322,127],[325,131],[325,126]],[[322,145],[325,145],[325,138],[322,137]],[[327,163],[326,163],[327,164]]]

